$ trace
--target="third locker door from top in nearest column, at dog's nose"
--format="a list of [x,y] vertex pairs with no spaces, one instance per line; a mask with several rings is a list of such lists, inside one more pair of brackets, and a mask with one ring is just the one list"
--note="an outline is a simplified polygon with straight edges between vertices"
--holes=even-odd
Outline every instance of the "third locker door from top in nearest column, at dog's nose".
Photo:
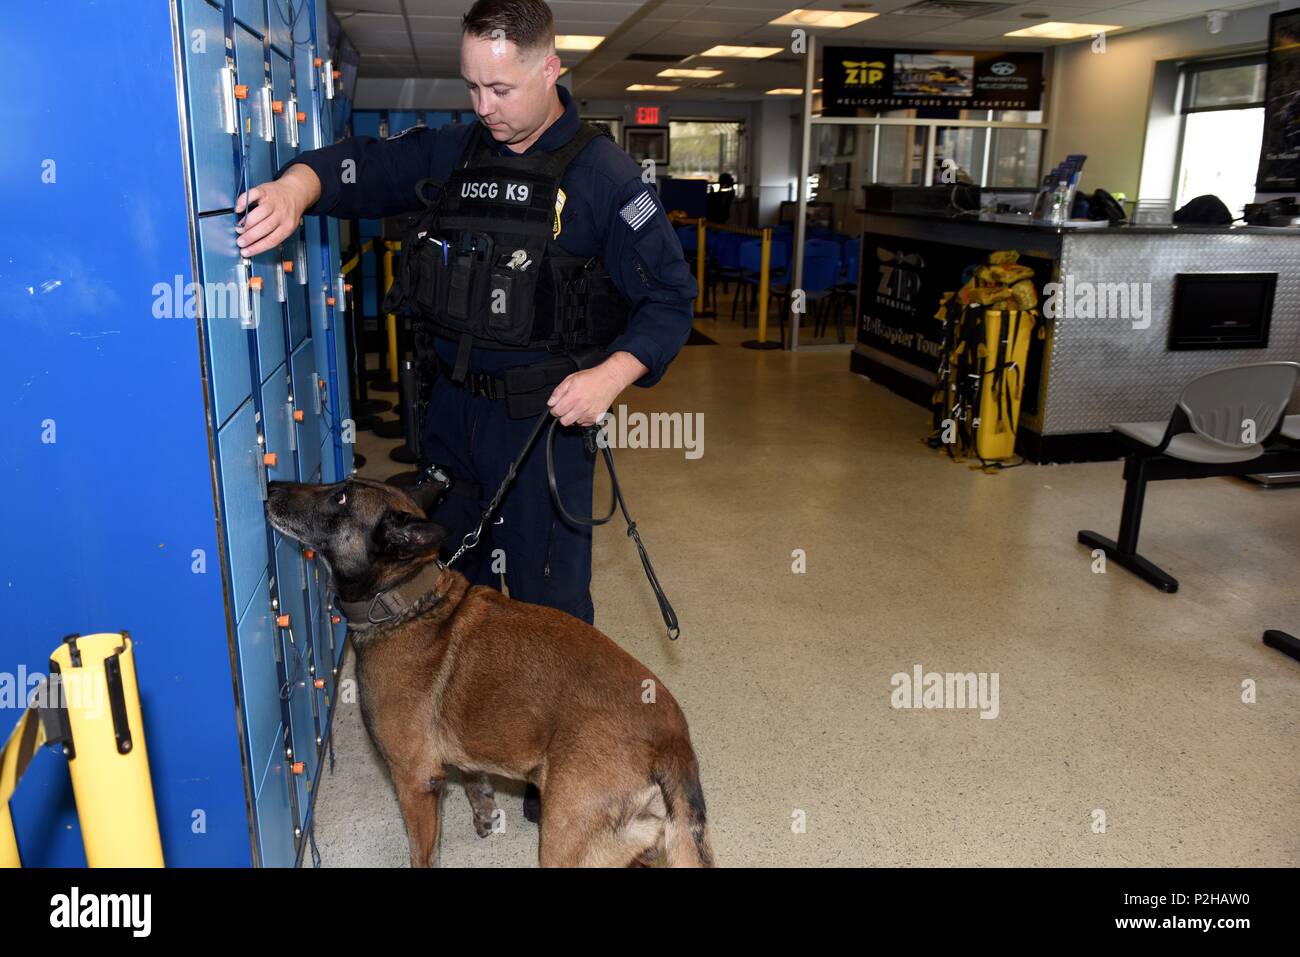
[[239,407],[217,432],[221,467],[221,519],[235,615],[242,616],[266,571],[266,511],[261,493],[261,449],[252,402]]

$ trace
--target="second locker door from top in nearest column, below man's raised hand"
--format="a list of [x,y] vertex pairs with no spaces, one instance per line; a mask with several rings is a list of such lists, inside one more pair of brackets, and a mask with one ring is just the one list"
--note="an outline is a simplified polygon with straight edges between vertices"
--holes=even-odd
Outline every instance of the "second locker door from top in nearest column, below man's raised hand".
[[217,425],[250,395],[248,333],[252,308],[246,272],[235,246],[234,216],[199,220],[199,257],[203,265],[204,339],[212,374]]

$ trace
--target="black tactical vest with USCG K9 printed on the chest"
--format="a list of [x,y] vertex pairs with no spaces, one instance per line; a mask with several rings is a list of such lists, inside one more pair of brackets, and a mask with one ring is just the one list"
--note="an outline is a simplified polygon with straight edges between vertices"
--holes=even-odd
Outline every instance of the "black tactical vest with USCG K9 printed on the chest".
[[417,352],[430,350],[430,332],[459,339],[458,367],[471,346],[569,352],[623,332],[628,303],[601,257],[555,239],[564,170],[599,135],[584,122],[554,152],[497,156],[474,130],[445,182],[416,185],[425,209],[407,217],[384,308],[416,317]]

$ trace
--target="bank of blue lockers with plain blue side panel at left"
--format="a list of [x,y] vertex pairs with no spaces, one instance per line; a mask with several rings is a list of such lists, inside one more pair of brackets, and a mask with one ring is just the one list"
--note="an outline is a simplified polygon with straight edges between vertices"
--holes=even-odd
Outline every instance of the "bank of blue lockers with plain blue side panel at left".
[[[4,21],[0,672],[129,632],[166,863],[292,866],[346,628],[263,503],[352,472],[344,287],[337,221],[247,260],[233,207],[335,138],[325,0]],[[10,809],[26,866],[84,863],[58,750]]]

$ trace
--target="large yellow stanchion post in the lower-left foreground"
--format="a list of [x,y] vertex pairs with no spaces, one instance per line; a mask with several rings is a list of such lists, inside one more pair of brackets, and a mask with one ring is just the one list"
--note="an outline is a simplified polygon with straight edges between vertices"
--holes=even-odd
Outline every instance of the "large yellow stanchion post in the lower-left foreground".
[[161,867],[159,835],[126,632],[73,636],[49,657],[51,705],[66,715],[68,770],[91,867]]

